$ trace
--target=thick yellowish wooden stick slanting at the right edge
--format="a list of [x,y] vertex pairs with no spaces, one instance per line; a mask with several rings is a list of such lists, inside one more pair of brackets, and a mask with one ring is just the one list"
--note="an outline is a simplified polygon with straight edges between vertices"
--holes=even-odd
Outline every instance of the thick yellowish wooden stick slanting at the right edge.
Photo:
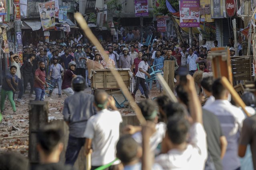
[[248,113],[248,111],[246,111],[245,107],[246,105],[244,104],[244,101],[241,99],[241,97],[238,95],[238,93],[236,92],[236,90],[233,88],[233,86],[230,84],[230,82],[228,81],[228,79],[226,77],[222,77],[221,78],[221,83],[222,85],[228,89],[228,91],[230,92],[230,94],[233,97],[233,100],[236,102],[236,104],[238,104],[240,107],[242,107],[244,113],[246,113],[246,115],[248,117],[250,117],[251,115]]

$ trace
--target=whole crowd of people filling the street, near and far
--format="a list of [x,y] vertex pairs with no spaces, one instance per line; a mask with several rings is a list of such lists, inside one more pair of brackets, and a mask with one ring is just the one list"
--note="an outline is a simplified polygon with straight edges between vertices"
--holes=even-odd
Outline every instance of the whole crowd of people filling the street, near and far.
[[[129,33],[132,34],[132,33]],[[105,51],[99,51],[90,43],[83,43],[82,35],[42,42],[24,47],[22,61],[10,52],[10,73],[6,74],[1,89],[1,113],[4,113],[6,96],[16,114],[14,94],[18,89],[16,103],[30,83],[30,97],[35,93],[36,101],[44,101],[45,88],[48,96],[58,87],[58,97],[65,93],[63,116],[69,126],[69,142],[64,166],[59,162],[63,150],[62,132],[59,128],[46,126],[38,132],[40,165],[35,169],[73,169],[79,151],[84,146],[85,155],[92,154],[91,169],[111,163],[106,170],[240,170],[239,156],[246,153],[250,144],[254,169],[256,152],[254,141],[255,116],[246,118],[243,111],[230,103],[230,93],[220,79],[206,77],[200,81],[200,93],[207,101],[200,101],[192,76],[197,71],[211,72],[211,61],[207,55],[211,47],[202,41],[187,43],[170,40],[153,40],[147,44],[145,38],[139,42],[102,41]],[[234,48],[230,40],[230,55]],[[218,42],[214,42],[218,47]],[[109,56],[105,60],[103,53]],[[150,100],[150,67],[163,74],[164,61],[174,61],[175,94],[179,103],[173,103],[160,95]],[[94,95],[84,93],[91,87],[91,69],[130,69],[135,80],[132,96],[139,89],[141,101],[138,106],[147,123],[142,126],[127,125],[126,135],[120,136],[121,113],[115,100],[106,92]],[[159,92],[162,92],[161,83]],[[243,98],[252,115],[256,97],[245,93]],[[246,102],[248,101],[248,102]],[[202,107],[202,105],[204,105]],[[242,136],[242,137],[240,137]],[[0,161],[5,160],[0,154]],[[7,155],[8,156],[8,155]],[[10,161],[12,158],[10,158]],[[10,166],[10,161],[0,162]],[[16,164],[15,164],[16,165]],[[19,169],[27,169],[23,166]],[[18,165],[17,165],[18,166]]]

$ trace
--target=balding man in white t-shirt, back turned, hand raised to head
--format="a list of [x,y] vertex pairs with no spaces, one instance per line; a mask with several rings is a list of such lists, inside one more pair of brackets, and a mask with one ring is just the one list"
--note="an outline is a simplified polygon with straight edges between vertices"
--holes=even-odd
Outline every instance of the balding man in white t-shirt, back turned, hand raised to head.
[[[100,91],[95,95],[94,106],[97,109],[97,114],[87,121],[85,129],[85,154],[93,152],[91,170],[115,160],[119,125],[123,122],[121,114],[115,106],[115,100],[105,91]],[[108,106],[112,111],[107,109]],[[116,161],[113,166],[119,163],[120,161]]]

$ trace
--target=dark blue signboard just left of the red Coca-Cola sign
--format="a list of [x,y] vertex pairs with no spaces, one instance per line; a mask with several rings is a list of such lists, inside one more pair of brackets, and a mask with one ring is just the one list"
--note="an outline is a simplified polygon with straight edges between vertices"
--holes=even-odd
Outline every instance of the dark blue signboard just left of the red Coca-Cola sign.
[[226,18],[226,6],[223,0],[211,0],[211,17]]

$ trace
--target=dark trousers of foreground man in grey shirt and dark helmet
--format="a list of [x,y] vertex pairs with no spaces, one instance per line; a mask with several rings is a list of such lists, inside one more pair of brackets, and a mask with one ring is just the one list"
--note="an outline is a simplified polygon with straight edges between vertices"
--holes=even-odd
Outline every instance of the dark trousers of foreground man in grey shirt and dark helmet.
[[79,151],[81,150],[82,146],[85,145],[85,138],[76,138],[69,135],[69,142],[66,150],[66,161],[65,164],[74,165]]

